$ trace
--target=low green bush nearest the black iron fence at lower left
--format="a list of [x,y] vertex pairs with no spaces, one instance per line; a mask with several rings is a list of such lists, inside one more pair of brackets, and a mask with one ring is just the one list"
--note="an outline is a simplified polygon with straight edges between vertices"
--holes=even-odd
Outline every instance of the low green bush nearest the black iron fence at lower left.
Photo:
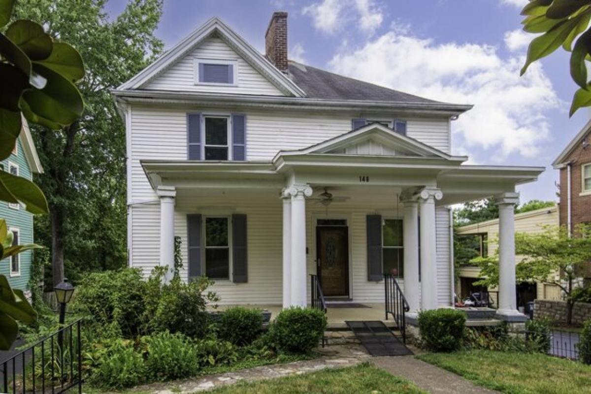
[[[131,341],[112,341],[103,348],[101,356],[92,360],[94,366],[90,383],[100,388],[122,389],[144,382],[145,364],[141,353],[134,349]],[[87,361],[88,362],[88,361]]]

